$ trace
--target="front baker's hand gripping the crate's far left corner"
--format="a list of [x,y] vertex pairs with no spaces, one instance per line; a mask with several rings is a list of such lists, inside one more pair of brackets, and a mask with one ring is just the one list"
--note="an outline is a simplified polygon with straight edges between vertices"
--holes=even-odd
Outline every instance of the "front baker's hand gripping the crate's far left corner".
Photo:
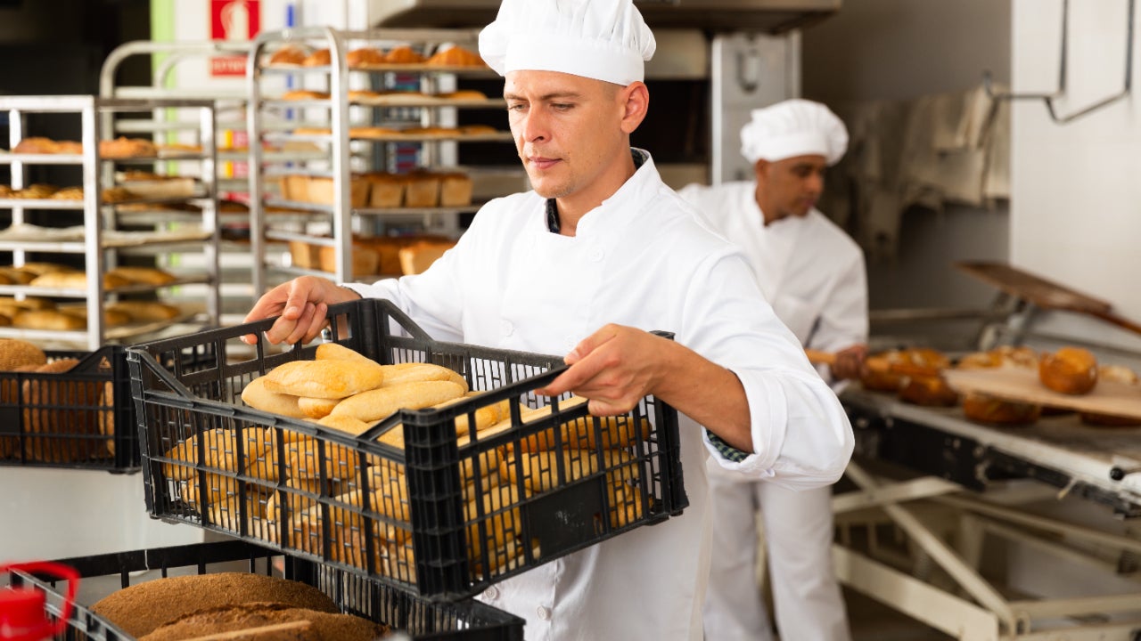
[[[351,290],[338,287],[327,278],[301,276],[266,292],[245,315],[244,322],[277,316],[277,320],[266,331],[267,341],[273,344],[307,343],[325,327],[325,314],[330,305],[358,298]],[[242,342],[257,344],[258,338],[245,334]]]

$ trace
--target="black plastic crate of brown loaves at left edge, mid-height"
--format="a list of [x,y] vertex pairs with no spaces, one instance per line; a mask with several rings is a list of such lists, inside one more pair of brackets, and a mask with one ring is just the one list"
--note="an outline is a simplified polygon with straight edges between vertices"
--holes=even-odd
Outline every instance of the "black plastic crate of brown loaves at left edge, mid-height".
[[0,465],[137,472],[124,348],[47,355],[79,363],[60,373],[0,372]]

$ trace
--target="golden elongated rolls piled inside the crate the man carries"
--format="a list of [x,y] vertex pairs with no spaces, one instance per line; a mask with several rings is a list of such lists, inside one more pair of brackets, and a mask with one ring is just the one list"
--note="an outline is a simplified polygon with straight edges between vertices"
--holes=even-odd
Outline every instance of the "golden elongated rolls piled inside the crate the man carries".
[[[161,463],[149,473],[163,480],[169,503],[162,510],[177,513],[183,504],[186,516],[222,532],[416,586],[418,530],[410,493],[419,487],[447,495],[448,488],[413,479],[405,464],[405,455],[412,454],[404,425],[377,423],[400,409],[460,406],[482,393],[469,390],[468,381],[450,367],[380,365],[343,344],[322,343],[314,359],[290,360],[250,380],[241,400],[324,431],[250,424],[186,437],[163,427],[151,440],[177,445],[154,457]],[[442,440],[429,448],[429,456],[440,459],[428,468],[458,469],[459,484],[452,489],[460,494],[462,513],[455,514],[455,529],[462,533],[461,554],[476,581],[534,565],[552,552],[526,535],[532,526],[524,525],[520,509],[533,497],[605,474],[600,487],[606,496],[596,498],[604,508],[594,519],[606,522],[590,526],[599,535],[638,525],[653,501],[648,486],[654,480],[642,477],[654,454],[639,448],[653,431],[645,416],[589,416],[585,399],[570,397],[557,412],[581,408],[581,417],[512,439],[507,433],[512,427],[552,415],[551,405],[518,404],[511,398],[477,401],[454,417],[451,443],[447,435],[437,435]],[[362,451],[357,437],[383,444],[393,454]],[[476,449],[464,455],[468,445]]]

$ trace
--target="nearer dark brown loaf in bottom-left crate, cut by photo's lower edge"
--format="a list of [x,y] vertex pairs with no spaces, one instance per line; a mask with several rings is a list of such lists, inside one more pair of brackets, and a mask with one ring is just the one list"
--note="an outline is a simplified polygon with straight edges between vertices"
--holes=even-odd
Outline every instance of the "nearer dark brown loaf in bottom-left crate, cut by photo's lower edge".
[[[186,615],[157,627],[139,641],[180,641],[222,632],[265,627],[289,622],[308,622],[305,630],[280,630],[252,633],[257,641],[373,641],[388,630],[353,615],[333,615],[282,603],[241,603],[209,608]],[[245,638],[243,635],[242,638]]]

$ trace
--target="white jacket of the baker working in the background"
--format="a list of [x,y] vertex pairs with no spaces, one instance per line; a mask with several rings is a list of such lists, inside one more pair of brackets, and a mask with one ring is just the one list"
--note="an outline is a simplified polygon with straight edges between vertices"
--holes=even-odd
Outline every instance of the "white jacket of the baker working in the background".
[[745,251],[764,298],[804,347],[867,342],[864,252],[826,216],[814,208],[766,227],[755,182],[689,185],[678,194]]

